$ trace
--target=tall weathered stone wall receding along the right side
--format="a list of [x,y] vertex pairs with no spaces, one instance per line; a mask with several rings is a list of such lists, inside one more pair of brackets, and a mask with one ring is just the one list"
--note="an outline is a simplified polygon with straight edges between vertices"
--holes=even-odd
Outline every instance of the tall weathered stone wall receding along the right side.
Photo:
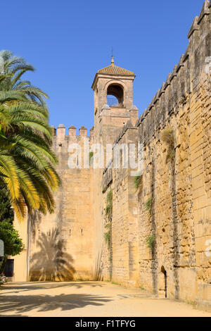
[[[113,170],[113,256],[102,263],[106,279],[158,294],[166,286],[168,297],[204,306],[211,304],[210,9],[205,1],[179,64],[135,127],[128,123],[116,139],[143,144],[143,175],[136,192],[129,170]],[[170,129],[175,158],[166,162],[162,135]]]

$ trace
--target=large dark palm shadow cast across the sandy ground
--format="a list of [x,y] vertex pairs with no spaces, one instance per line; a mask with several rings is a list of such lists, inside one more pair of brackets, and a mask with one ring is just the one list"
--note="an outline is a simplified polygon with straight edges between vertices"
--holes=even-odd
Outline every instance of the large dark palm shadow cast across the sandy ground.
[[50,295],[12,295],[0,297],[0,316],[7,311],[15,313],[26,313],[36,309],[36,311],[53,311],[60,308],[61,311],[68,311],[84,306],[102,306],[111,299],[105,296],[91,294],[59,294]]

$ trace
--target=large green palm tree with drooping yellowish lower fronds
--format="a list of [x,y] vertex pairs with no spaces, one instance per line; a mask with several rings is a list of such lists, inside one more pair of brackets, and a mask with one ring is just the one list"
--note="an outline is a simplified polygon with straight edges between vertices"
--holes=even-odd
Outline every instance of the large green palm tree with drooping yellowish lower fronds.
[[[21,220],[28,212],[54,210],[53,190],[60,180],[51,151],[52,130],[48,97],[30,82],[20,80],[34,70],[23,58],[0,51],[0,185],[6,187]],[[3,64],[2,64],[3,63]]]

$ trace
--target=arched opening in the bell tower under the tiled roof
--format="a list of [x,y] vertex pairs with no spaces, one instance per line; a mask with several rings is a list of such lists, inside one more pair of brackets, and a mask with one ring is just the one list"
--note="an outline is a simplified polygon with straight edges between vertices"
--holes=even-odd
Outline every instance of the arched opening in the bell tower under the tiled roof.
[[110,107],[124,106],[124,91],[120,85],[109,85],[107,89],[107,104]]

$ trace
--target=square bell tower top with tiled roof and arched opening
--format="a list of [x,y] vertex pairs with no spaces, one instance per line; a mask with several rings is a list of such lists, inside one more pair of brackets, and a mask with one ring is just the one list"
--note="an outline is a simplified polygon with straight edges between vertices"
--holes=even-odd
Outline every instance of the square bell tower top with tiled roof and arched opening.
[[[91,88],[94,90],[94,128],[95,136],[113,143],[120,129],[132,125],[138,119],[138,109],[133,105],[133,82],[136,76],[132,71],[120,68],[114,63],[113,56],[108,67],[98,70]],[[104,139],[103,139],[104,140]]]

